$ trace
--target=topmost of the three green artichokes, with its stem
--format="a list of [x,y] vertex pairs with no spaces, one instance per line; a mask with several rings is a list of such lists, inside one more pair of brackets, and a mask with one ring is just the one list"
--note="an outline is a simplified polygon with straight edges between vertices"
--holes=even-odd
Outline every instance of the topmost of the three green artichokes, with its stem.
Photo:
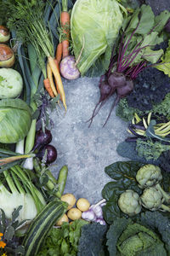
[[136,180],[139,183],[139,188],[149,188],[156,185],[156,189],[161,192],[165,201],[170,203],[170,195],[168,195],[163,189],[161,189],[161,182],[162,175],[161,169],[159,166],[154,165],[145,165],[142,166],[136,175]]

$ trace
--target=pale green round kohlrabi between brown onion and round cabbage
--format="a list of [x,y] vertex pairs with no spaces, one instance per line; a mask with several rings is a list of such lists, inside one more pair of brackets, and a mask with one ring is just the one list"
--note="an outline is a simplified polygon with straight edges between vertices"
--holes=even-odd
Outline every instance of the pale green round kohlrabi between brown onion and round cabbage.
[[20,96],[23,80],[13,68],[0,68],[0,99]]

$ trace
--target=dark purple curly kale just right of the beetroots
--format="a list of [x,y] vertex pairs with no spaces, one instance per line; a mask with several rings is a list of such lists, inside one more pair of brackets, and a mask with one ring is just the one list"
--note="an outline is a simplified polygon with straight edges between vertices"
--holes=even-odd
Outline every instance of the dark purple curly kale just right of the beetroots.
[[127,96],[127,104],[141,111],[150,110],[164,100],[170,92],[170,78],[154,67],[147,67],[134,80],[133,92]]

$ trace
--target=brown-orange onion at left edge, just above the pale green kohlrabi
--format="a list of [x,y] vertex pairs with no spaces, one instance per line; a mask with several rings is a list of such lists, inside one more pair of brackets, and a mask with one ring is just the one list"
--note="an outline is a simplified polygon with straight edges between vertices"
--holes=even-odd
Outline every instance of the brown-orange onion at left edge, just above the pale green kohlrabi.
[[7,44],[0,44],[0,67],[13,67],[14,51]]

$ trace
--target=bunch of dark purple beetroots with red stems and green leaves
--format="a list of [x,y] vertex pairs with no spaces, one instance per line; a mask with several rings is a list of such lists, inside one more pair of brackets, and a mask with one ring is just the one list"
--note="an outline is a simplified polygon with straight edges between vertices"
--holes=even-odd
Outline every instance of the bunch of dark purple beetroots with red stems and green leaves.
[[133,80],[146,67],[158,63],[164,52],[163,49],[155,49],[155,47],[164,41],[162,31],[169,18],[170,12],[167,10],[155,17],[150,6],[145,4],[136,9],[132,16],[127,16],[122,26],[119,45],[116,50],[113,49],[109,69],[100,78],[100,98],[91,119],[88,120],[89,126],[99,113],[99,109],[112,95],[116,94],[103,125],[105,126],[120,99],[133,91]]

